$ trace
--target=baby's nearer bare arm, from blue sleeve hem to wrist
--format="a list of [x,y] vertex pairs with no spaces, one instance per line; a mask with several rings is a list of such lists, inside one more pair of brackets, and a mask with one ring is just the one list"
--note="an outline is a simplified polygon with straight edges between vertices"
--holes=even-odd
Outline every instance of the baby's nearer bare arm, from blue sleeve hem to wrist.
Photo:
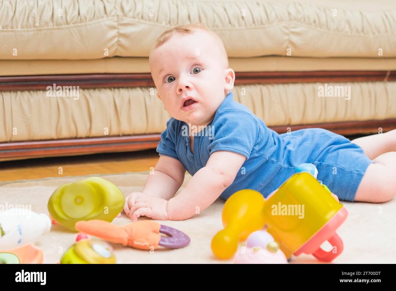
[[186,187],[167,204],[169,220],[185,220],[203,211],[231,185],[246,160],[244,155],[216,151],[206,166],[192,176]]

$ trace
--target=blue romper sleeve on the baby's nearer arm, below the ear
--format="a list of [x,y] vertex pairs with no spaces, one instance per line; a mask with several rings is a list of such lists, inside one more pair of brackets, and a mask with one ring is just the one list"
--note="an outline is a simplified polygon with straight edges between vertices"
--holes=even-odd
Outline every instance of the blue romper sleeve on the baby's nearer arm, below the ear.
[[213,122],[213,141],[209,153],[232,151],[249,159],[259,135],[259,125],[253,116],[243,110],[223,110]]

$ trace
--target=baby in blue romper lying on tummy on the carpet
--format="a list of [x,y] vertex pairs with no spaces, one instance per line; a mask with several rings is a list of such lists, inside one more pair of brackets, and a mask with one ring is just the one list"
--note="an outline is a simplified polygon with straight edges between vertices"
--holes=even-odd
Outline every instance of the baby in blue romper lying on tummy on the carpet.
[[[126,197],[136,221],[185,220],[241,189],[267,197],[301,163],[341,200],[385,202],[396,189],[396,130],[355,140],[308,128],[278,134],[234,101],[223,42],[200,24],[165,31],[150,52],[157,96],[171,115],[142,192]],[[181,187],[186,170],[192,175]],[[338,199],[337,199],[338,200]]]

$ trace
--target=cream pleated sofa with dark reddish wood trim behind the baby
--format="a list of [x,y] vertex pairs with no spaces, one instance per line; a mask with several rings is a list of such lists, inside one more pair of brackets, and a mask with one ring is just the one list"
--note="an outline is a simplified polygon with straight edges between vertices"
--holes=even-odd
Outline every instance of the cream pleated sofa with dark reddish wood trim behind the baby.
[[[393,1],[11,0],[0,8],[0,160],[155,148],[170,116],[150,48],[196,22],[223,40],[234,99],[268,127],[396,128]],[[78,98],[48,96],[53,84],[79,86]],[[349,96],[318,96],[340,86]]]

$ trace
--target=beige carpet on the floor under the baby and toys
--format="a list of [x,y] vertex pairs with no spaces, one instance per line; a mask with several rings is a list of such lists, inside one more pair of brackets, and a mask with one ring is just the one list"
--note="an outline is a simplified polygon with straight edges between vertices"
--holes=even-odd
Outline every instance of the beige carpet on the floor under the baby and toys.
[[[147,175],[148,172],[96,176],[113,182],[127,195],[132,191],[141,191]],[[0,203],[31,204],[34,212],[48,214],[48,198],[57,187],[86,177],[0,182]],[[186,175],[183,187],[190,179],[191,176]],[[186,221],[159,221],[190,236],[191,243],[187,247],[158,249],[150,253],[112,244],[117,263],[232,263],[232,260],[216,259],[210,249],[212,237],[222,228],[223,204],[223,200],[217,200],[201,214]],[[345,249],[333,263],[396,263],[396,198],[382,204],[345,202],[344,205],[349,216],[338,234],[343,239]],[[123,212],[122,217],[115,218],[113,223],[126,225],[130,221]],[[51,232],[36,243],[36,246],[44,249],[44,263],[59,261],[61,251],[69,248],[74,243],[74,238],[74,233],[60,225],[54,225]],[[303,254],[293,256],[291,263],[318,261],[311,255]]]

